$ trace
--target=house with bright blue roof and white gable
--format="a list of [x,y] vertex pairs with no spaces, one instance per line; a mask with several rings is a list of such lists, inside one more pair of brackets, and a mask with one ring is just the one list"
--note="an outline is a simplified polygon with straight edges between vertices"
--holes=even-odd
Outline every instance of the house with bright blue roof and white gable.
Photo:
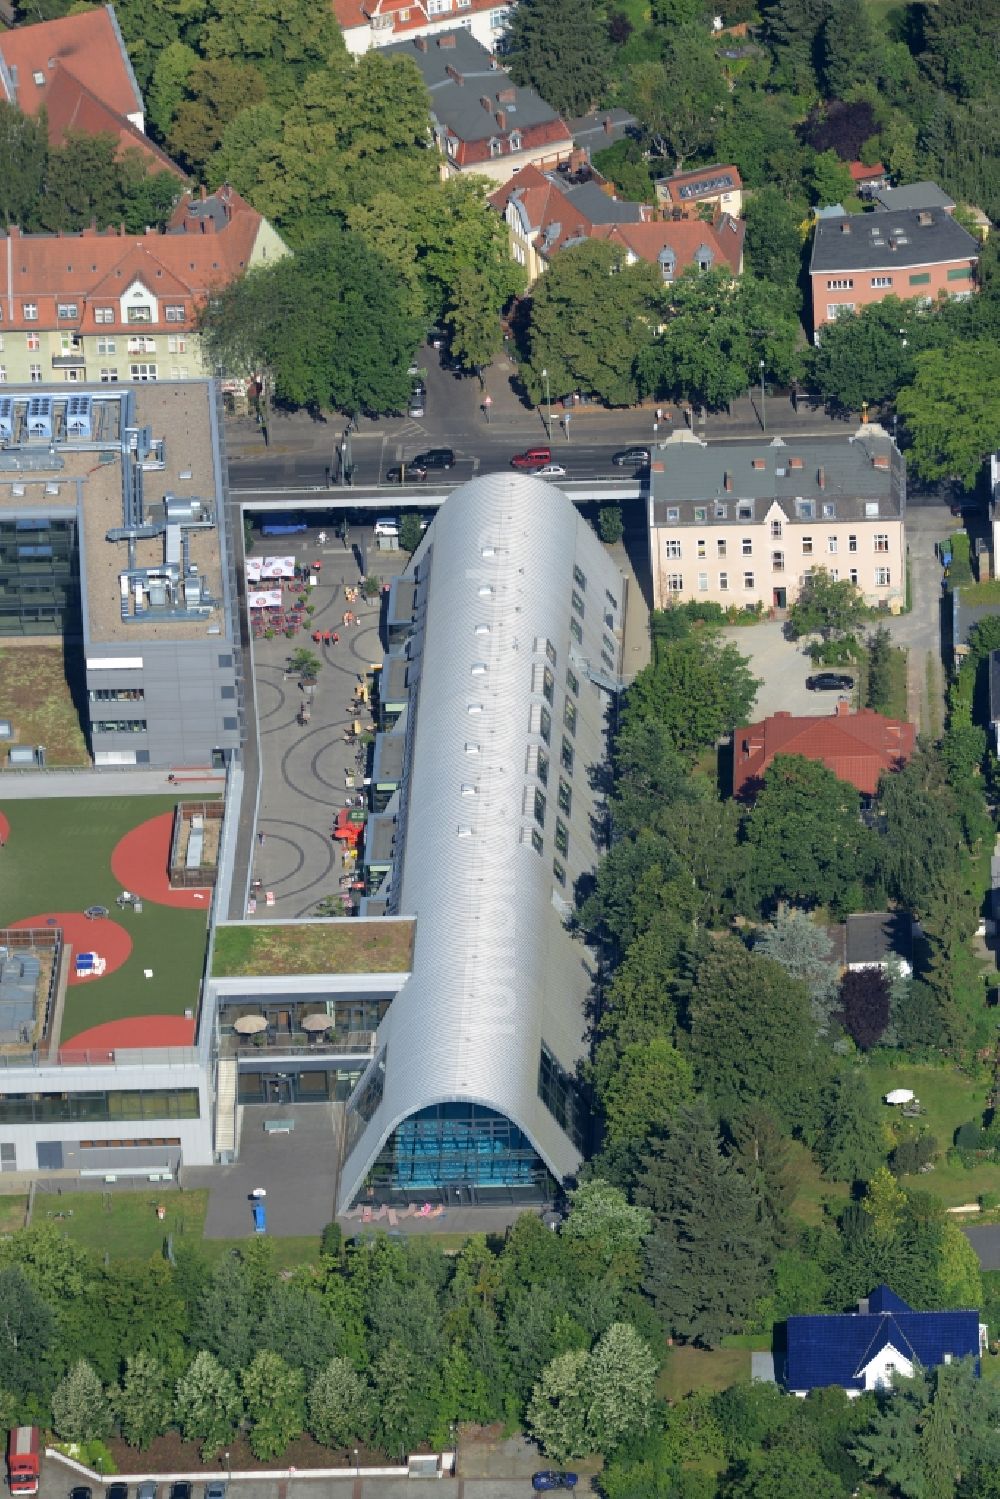
[[796,1396],[840,1385],[856,1397],[885,1390],[894,1375],[910,1378],[954,1358],[975,1358],[987,1348],[987,1325],[978,1312],[915,1312],[877,1286],[856,1312],[790,1316],[784,1382]]

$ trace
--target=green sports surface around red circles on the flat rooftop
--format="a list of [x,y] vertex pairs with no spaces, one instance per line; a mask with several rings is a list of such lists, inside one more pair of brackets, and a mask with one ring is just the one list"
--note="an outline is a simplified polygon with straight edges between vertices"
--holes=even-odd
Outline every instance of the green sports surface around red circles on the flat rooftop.
[[[144,902],[118,913],[111,853],[129,829],[174,806],[172,796],[93,796],[7,802],[10,844],[0,854],[0,911],[16,922],[43,911],[106,905],[132,937],[117,973],[66,991],[61,1040],[90,1025],[133,1015],[183,1015],[198,1007],[205,911]],[[153,977],[144,979],[142,970]]]

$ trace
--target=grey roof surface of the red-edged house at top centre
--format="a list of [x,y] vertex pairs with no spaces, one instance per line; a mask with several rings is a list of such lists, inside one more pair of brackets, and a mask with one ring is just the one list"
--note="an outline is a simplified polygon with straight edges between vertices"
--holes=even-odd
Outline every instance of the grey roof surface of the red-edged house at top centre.
[[[454,37],[451,45],[441,45],[442,37]],[[426,42],[426,51],[418,42]],[[498,108],[498,94],[510,91],[513,99],[501,105],[507,112],[507,127],[528,130],[547,124],[559,115],[534,88],[519,88],[517,84],[496,66],[492,54],[463,27],[454,31],[439,31],[429,37],[414,37],[409,42],[394,42],[382,48],[390,55],[409,57],[423,73],[430,90],[430,108],[435,118],[459,141],[489,141],[496,135],[496,120],[487,114],[481,100],[490,99]],[[451,67],[462,82],[448,72]]]

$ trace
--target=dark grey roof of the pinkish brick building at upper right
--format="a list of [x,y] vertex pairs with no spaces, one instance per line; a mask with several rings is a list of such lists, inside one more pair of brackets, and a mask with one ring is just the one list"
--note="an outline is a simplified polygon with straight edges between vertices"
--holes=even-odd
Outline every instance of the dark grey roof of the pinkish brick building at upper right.
[[846,213],[817,220],[810,271],[892,270],[978,255],[978,241],[943,208]]

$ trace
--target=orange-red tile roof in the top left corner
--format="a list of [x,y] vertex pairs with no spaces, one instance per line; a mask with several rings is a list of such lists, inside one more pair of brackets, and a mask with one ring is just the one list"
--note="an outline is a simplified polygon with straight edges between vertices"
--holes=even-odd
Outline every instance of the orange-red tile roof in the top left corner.
[[[142,114],[142,97],[111,6],[57,21],[18,25],[0,36],[7,72],[16,69],[16,99],[24,114],[46,103],[57,66],[63,66],[115,114]],[[40,73],[43,81],[36,82]]]

